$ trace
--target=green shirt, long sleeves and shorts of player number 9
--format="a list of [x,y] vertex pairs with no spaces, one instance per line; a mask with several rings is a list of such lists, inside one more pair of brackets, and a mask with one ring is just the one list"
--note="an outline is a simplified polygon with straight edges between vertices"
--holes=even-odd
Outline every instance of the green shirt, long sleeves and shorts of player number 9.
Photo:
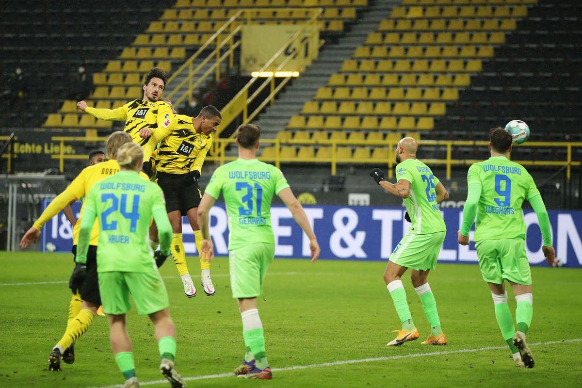
[[[544,245],[552,246],[549,219],[533,178],[518,163],[494,156],[471,165],[467,186],[461,233],[469,235],[476,213],[474,240],[483,279],[496,284],[504,279],[531,284],[526,224],[521,211],[524,200],[530,201],[538,214]],[[540,216],[543,213],[545,216]]]

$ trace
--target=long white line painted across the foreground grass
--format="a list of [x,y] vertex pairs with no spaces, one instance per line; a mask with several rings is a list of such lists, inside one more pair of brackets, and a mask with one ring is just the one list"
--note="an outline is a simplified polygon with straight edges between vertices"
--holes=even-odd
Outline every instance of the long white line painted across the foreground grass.
[[[572,342],[580,342],[582,338],[575,338],[570,340],[562,340],[562,341],[545,341],[545,342],[536,342],[529,344],[530,346],[538,346],[538,345],[553,345],[553,344],[561,344],[561,343],[572,343]],[[310,365],[296,365],[296,366],[288,366],[286,368],[274,368],[272,369],[273,372],[286,372],[286,371],[298,371],[300,369],[310,369],[310,368],[324,368],[325,366],[336,366],[336,365],[346,365],[346,364],[360,364],[361,362],[374,362],[374,361],[387,361],[390,359],[402,359],[402,358],[414,358],[414,357],[430,357],[435,355],[448,355],[448,354],[459,354],[459,353],[475,353],[478,351],[486,351],[486,350],[501,350],[505,349],[507,346],[488,346],[482,348],[471,348],[471,349],[459,349],[459,350],[442,350],[442,351],[434,351],[429,353],[412,353],[412,354],[402,354],[402,355],[391,355],[386,357],[372,357],[372,358],[360,358],[360,359],[347,359],[344,361],[333,361],[333,362],[323,362],[322,364],[310,364]],[[219,373],[218,375],[205,375],[205,376],[192,376],[186,377],[184,380],[192,381],[192,380],[207,380],[207,379],[219,379],[223,377],[234,377],[234,373]],[[140,382],[140,386],[143,385],[155,385],[155,384],[164,384],[167,383],[168,380],[154,380],[154,381],[146,381]],[[109,385],[104,387],[91,387],[91,388],[119,388],[122,385]]]

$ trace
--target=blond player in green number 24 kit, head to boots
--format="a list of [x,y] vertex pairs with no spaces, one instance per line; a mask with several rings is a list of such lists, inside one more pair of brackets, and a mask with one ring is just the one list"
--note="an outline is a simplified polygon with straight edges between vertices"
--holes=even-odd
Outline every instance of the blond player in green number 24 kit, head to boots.
[[117,175],[101,180],[89,190],[79,230],[77,262],[84,262],[91,227],[99,219],[97,273],[103,311],[109,317],[111,348],[115,362],[126,379],[124,387],[138,387],[132,342],[125,327],[125,314],[131,308],[129,294],[140,315],[154,323],[162,361],[161,373],[172,387],[183,387],[174,369],[176,329],[170,318],[168,293],[151,257],[147,243],[151,217],[158,226],[161,249],[157,261],[170,254],[172,227],[168,220],[162,190],[139,176],[143,151],[136,143],[119,148]]

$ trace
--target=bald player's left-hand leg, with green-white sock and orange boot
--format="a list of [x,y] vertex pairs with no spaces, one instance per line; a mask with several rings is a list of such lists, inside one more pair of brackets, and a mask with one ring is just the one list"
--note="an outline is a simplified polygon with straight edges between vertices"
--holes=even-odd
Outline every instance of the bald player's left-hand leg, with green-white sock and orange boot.
[[388,261],[388,265],[384,272],[386,288],[392,297],[400,322],[402,322],[402,329],[395,330],[398,332],[398,336],[396,336],[396,339],[386,344],[387,346],[400,346],[406,341],[413,341],[418,338],[418,331],[412,321],[408,301],[406,300],[406,291],[404,291],[402,280],[400,280],[400,277],[404,275],[406,269],[406,267]]

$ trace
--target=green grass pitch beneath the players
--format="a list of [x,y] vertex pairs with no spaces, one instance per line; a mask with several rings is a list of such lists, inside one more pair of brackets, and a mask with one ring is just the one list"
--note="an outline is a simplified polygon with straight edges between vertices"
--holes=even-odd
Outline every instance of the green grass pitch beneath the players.
[[[422,306],[405,277],[421,340],[388,348],[398,316],[382,280],[385,262],[276,259],[258,308],[265,328],[271,382],[234,376],[189,380],[190,387],[574,387],[582,386],[582,270],[533,268],[534,318],[528,333],[534,369],[517,369],[501,338],[493,302],[477,266],[439,265],[430,284],[449,344],[420,344],[429,332]],[[195,257],[191,273],[199,282]],[[47,357],[66,325],[73,264],[67,254],[0,253],[0,386],[102,387],[123,382],[107,319],[95,317],[76,344],[76,361],[47,370]],[[232,372],[243,356],[242,325],[230,295],[228,262],[217,258],[217,294],[187,299],[171,261],[161,269],[178,332],[176,368],[182,376]],[[407,275],[405,275],[407,276]],[[44,282],[44,283],[41,283]],[[28,284],[15,284],[28,283]],[[509,292],[510,308],[515,301]],[[132,310],[128,329],[140,382],[161,380],[153,328]],[[573,341],[562,341],[573,340]],[[504,347],[505,346],[505,347]],[[488,349],[483,349],[488,348]],[[381,358],[362,361],[368,358]],[[388,359],[386,359],[388,358]],[[353,364],[340,361],[359,360]],[[312,368],[292,366],[325,364]],[[168,386],[158,383],[152,386]]]

